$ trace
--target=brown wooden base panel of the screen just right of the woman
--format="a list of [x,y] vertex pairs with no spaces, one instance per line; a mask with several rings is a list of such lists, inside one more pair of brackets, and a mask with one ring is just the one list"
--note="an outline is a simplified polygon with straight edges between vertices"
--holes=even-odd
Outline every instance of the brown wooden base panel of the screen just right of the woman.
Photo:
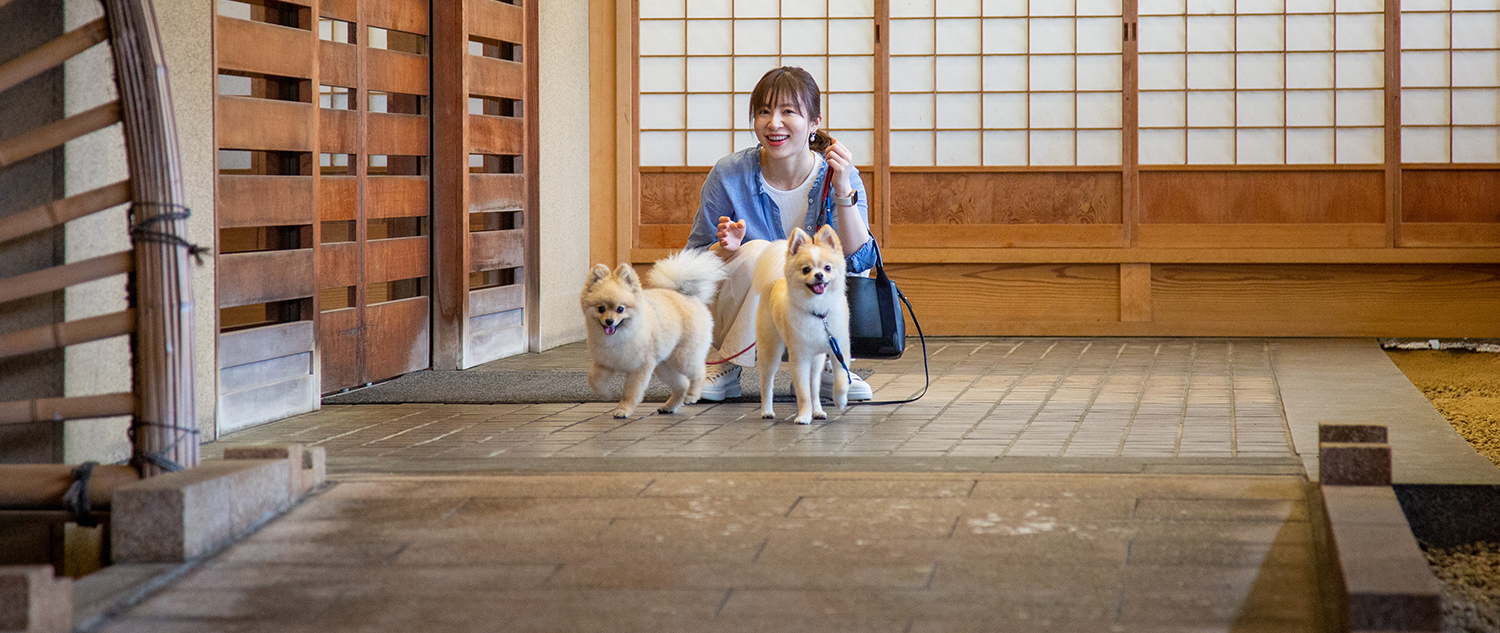
[[1119,172],[894,172],[891,225],[1120,224]]

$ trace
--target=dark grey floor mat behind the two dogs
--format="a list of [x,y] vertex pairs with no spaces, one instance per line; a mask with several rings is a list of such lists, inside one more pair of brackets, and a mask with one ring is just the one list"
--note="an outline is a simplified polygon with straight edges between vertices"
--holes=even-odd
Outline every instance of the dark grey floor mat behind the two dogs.
[[[783,364],[784,368],[784,364]],[[868,369],[855,369],[868,376]],[[740,375],[744,393],[726,402],[760,402],[760,374],[746,368]],[[586,372],[538,370],[422,370],[376,386],[338,393],[322,399],[326,405],[394,405],[402,402],[442,404],[534,404],[534,402],[618,402],[624,378],[616,376],[606,398],[588,388]],[[777,400],[792,398],[792,380],[783,369],[777,372],[772,393]],[[664,384],[651,380],[645,402],[668,399]]]

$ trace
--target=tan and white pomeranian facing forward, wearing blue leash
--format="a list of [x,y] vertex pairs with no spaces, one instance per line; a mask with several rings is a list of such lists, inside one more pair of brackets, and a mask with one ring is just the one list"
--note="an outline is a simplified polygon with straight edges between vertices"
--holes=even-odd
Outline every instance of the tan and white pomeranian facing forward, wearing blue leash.
[[[824,362],[838,350],[849,350],[849,303],[844,298],[844,260],[838,234],[824,225],[807,237],[801,228],[786,242],[766,246],[756,261],[752,290],[760,292],[756,312],[756,369],[760,370],[760,417],[774,418],[771,381],[782,366],[782,352],[792,363],[792,392],[796,393],[796,423],[826,420],[818,388]],[[849,375],[834,366],[834,405],[849,406]]]

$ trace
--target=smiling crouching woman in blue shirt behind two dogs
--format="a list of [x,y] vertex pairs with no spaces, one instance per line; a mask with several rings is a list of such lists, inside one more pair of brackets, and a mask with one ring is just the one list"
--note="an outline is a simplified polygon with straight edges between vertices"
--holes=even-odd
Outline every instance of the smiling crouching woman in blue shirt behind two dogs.
[[[750,122],[758,147],[718,159],[704,182],[698,218],[687,248],[708,248],[724,260],[729,278],[710,306],[714,348],[708,352],[705,400],[740,396],[740,368],[754,364],[754,315],[760,302],[750,291],[754,261],[772,240],[794,228],[818,230],[824,178],[832,184],[834,213],[825,222],[838,232],[849,273],[874,266],[870,207],[849,148],[822,129],[818,82],[800,68],[783,66],[760,76],[750,93]],[[824,396],[832,387],[825,369]],[[850,400],[868,400],[870,386],[852,376]]]

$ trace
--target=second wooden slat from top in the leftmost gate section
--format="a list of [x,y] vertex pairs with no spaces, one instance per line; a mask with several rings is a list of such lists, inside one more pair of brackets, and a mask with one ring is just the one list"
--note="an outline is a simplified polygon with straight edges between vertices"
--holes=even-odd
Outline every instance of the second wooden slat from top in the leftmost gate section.
[[219,147],[312,152],[312,104],[220,96],[214,112]]

